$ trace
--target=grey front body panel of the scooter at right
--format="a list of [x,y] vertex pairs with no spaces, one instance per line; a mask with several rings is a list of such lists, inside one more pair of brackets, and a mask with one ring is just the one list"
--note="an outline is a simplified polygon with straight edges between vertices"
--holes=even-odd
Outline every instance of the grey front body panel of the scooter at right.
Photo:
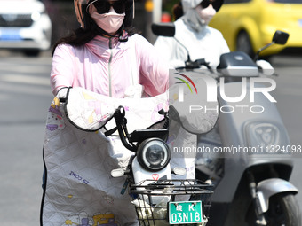
[[[224,84],[225,92],[229,97],[239,97],[242,91],[242,82],[230,82]],[[258,87],[261,87],[258,84]],[[250,84],[247,83],[247,95],[240,102],[226,101],[218,95],[220,114],[218,120],[219,134],[221,137],[222,148],[230,152],[224,153],[225,169],[224,176],[215,188],[212,196],[213,202],[231,203],[234,199],[234,194],[242,179],[242,175],[246,169],[262,165],[262,164],[284,164],[292,166],[290,158],[283,158],[280,154],[274,155],[276,158],[271,158],[271,153],[266,153],[266,149],[261,149],[262,145],[288,145],[290,139],[283,125],[282,118],[274,103],[272,103],[262,93],[255,93],[254,102],[250,102]],[[261,113],[257,113],[261,112]],[[257,126],[273,129],[272,134],[267,132],[266,136],[277,136],[274,140],[269,140],[266,136],[257,135]],[[256,137],[256,138],[255,138]],[[258,138],[258,140],[257,140]],[[273,139],[273,138],[272,138]],[[258,141],[255,142],[255,141]],[[256,144],[255,144],[256,143]],[[240,148],[249,148],[247,152],[234,152]]]

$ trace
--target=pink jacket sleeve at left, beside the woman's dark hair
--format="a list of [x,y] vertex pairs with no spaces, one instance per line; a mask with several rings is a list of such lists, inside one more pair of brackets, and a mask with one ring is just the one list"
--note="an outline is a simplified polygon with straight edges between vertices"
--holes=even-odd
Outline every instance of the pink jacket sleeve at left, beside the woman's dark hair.
[[53,95],[72,86],[75,76],[75,54],[70,45],[58,45],[52,57],[51,87]]

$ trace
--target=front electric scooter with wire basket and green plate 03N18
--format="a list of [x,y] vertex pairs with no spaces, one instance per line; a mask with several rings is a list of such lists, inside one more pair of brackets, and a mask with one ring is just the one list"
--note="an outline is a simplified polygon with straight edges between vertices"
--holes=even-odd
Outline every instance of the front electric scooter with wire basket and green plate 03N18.
[[[211,184],[200,180],[175,180],[174,175],[185,175],[185,168],[171,168],[171,151],[166,144],[169,129],[168,113],[160,111],[164,120],[148,129],[128,133],[127,119],[123,106],[115,110],[115,129],[123,145],[134,152],[126,170],[116,168],[113,177],[127,175],[123,192],[129,186],[140,225],[181,224],[205,226],[208,222]],[[159,125],[158,125],[159,124]],[[179,197],[189,197],[181,200]]]

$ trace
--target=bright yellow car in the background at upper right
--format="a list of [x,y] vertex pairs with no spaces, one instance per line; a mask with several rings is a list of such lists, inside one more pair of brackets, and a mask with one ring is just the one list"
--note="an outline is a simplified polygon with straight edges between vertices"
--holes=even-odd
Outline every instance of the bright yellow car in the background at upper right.
[[288,50],[302,53],[302,0],[225,0],[210,26],[224,35],[231,51],[254,56],[271,43],[276,30],[282,30],[290,34],[287,44],[276,44],[261,56]]

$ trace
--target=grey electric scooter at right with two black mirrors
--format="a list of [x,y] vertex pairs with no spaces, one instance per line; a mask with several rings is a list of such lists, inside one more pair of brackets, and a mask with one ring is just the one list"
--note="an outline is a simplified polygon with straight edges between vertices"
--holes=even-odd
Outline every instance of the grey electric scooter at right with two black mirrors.
[[[172,23],[154,24],[152,30],[155,35],[175,34]],[[290,145],[270,94],[276,86],[274,68],[257,61],[261,51],[285,44],[288,37],[277,31],[254,60],[240,51],[223,54],[218,68],[204,59],[192,61],[186,43],[177,40],[188,53],[179,71],[217,79],[219,106],[211,110],[219,111],[219,120],[211,132],[199,136],[203,152],[195,161],[196,178],[210,179],[215,186],[208,225],[301,225],[298,189],[289,182],[292,154],[300,150]]]

